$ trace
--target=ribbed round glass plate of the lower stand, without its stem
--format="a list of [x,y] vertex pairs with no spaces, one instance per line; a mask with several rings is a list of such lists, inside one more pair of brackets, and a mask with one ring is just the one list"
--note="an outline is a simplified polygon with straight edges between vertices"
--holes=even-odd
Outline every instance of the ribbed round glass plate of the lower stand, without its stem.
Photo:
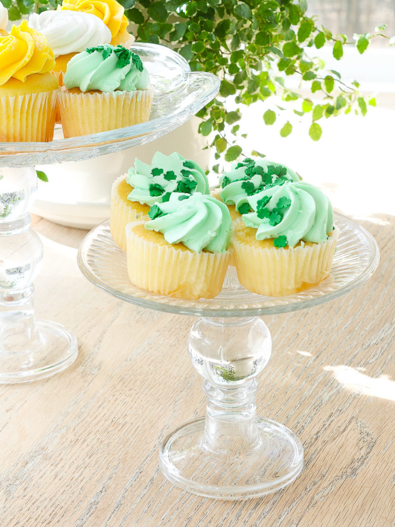
[[142,307],[211,317],[272,315],[317,306],[339,298],[366,281],[377,268],[379,249],[358,223],[335,213],[340,229],[331,274],[319,286],[296,295],[265,297],[244,289],[229,267],[222,291],[211,299],[182,300],[140,289],[127,276],[126,254],[116,245],[106,221],[90,231],[78,250],[78,266],[88,280],[111,295]]

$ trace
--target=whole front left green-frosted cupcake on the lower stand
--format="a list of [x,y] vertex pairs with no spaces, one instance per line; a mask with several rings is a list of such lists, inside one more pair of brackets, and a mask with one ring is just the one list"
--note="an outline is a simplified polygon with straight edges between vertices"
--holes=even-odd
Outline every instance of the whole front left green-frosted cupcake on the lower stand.
[[212,298],[229,265],[232,220],[211,196],[173,192],[155,203],[150,221],[126,226],[127,272],[132,284],[177,298]]

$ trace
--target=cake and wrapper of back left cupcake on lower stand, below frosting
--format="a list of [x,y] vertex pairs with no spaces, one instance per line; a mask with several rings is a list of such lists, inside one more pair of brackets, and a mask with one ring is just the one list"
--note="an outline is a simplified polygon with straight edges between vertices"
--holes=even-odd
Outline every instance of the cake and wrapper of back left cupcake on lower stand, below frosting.
[[118,187],[124,180],[125,175],[121,175],[111,188],[110,231],[115,243],[126,252],[126,225],[136,220],[148,221],[150,217],[148,214],[137,212],[133,207],[128,207],[120,198]]

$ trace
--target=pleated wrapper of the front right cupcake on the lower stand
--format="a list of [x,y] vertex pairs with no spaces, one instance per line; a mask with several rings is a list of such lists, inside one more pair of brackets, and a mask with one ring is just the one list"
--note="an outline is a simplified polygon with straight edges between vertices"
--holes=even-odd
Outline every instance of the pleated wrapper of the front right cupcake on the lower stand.
[[233,236],[236,269],[240,284],[265,296],[285,296],[307,289],[326,278],[339,237],[335,229],[322,243],[275,248],[249,245]]

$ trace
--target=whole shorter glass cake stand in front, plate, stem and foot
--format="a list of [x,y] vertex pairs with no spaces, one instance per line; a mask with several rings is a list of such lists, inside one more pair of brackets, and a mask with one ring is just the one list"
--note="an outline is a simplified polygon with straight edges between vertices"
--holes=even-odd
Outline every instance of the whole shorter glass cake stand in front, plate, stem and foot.
[[176,428],[162,443],[160,466],[175,485],[216,499],[246,499],[281,489],[302,470],[299,438],[256,415],[256,377],[272,348],[260,315],[323,304],[372,275],[379,262],[372,236],[340,214],[335,214],[335,222],[340,237],[330,276],[317,287],[279,298],[245,290],[232,267],[215,298],[157,295],[130,283],[126,255],[113,241],[108,222],[82,241],[78,266],[97,287],[141,307],[200,317],[190,330],[188,349],[193,366],[205,379],[206,416]]

